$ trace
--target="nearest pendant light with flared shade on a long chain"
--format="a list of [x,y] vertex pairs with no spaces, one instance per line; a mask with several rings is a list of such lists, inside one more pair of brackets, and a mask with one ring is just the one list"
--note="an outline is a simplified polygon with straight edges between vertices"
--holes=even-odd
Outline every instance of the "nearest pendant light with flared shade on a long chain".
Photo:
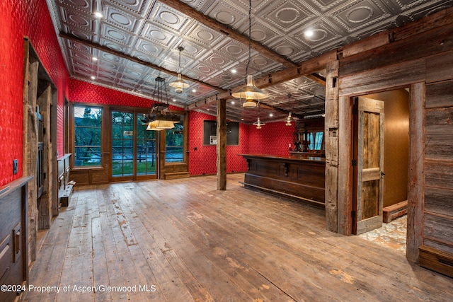
[[[233,98],[245,99],[246,101],[242,104],[243,108],[255,108],[261,99],[267,98],[268,95],[262,91],[260,88],[255,86],[255,82],[253,81],[253,76],[248,74],[248,65],[251,62],[251,48],[252,48],[252,1],[248,1],[248,61],[246,66],[246,87],[241,88],[239,91],[231,93]],[[254,100],[258,100],[255,102]]]

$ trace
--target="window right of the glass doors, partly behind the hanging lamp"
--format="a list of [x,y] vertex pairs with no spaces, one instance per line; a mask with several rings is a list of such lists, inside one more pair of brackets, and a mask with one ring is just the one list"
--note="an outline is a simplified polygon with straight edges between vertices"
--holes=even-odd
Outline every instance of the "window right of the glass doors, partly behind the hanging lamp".
[[[183,116],[181,116],[183,120]],[[165,162],[183,163],[184,161],[184,126],[183,121],[173,129],[165,131]]]

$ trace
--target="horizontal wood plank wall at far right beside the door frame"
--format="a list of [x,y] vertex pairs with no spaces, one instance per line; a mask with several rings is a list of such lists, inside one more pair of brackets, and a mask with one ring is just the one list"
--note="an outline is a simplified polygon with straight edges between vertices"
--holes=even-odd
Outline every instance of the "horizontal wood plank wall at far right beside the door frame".
[[426,59],[423,244],[453,254],[453,52]]

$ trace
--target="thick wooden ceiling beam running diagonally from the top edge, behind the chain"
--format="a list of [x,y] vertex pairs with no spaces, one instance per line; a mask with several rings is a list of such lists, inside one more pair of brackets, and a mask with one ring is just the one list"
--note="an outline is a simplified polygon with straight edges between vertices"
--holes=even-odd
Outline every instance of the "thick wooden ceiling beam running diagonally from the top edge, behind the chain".
[[[212,28],[213,30],[217,30],[217,32],[222,33],[227,37],[231,37],[231,39],[241,42],[243,45],[248,46],[248,36],[239,33],[239,31],[234,30],[233,28],[229,28],[223,23],[220,23],[214,18],[211,18],[210,16],[203,15],[199,11],[189,6],[188,4],[185,4],[183,1],[165,0],[162,3],[170,6],[171,8],[176,9],[176,11],[184,13],[190,18],[195,19],[196,21],[206,25],[209,28]],[[277,52],[270,50],[270,48],[265,47],[265,45],[262,45],[259,42],[251,40],[251,47],[253,48],[253,50],[256,50],[260,54],[263,54],[263,56],[273,59],[274,61],[283,64],[283,66],[285,67],[290,68],[296,66],[296,64],[294,62],[289,61],[287,57],[284,57],[281,54],[278,54]]]

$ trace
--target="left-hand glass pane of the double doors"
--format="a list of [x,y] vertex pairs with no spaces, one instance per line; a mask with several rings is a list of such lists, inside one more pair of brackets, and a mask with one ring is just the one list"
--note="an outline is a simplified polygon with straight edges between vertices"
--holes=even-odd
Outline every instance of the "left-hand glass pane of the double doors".
[[112,112],[112,177],[134,177],[134,114]]

